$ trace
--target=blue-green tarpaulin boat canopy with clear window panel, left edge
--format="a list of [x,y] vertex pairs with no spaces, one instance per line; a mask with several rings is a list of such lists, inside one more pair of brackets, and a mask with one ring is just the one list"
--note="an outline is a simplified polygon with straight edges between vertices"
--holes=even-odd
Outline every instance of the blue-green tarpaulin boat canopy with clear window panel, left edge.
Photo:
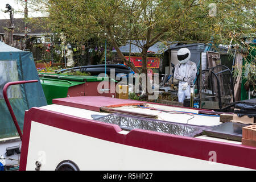
[[11,114],[3,98],[3,86],[10,81],[38,80],[38,82],[10,86],[7,96],[15,117],[23,131],[25,110],[47,105],[31,52],[21,51],[0,41],[0,138],[18,135]]

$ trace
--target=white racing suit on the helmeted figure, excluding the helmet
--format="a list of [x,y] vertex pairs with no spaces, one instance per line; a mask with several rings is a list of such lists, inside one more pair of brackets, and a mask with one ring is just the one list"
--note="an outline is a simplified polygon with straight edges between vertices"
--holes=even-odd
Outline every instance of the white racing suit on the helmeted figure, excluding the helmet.
[[[175,67],[174,78],[179,80],[179,102],[183,102],[185,96],[190,96],[190,85],[196,78],[197,68],[192,61],[187,61],[185,64],[178,63]],[[183,90],[183,85],[188,82],[188,86]]]

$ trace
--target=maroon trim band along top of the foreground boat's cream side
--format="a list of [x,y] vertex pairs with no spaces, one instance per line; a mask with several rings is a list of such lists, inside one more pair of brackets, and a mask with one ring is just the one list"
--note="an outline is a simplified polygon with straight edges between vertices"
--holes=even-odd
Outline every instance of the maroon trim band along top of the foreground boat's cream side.
[[215,151],[217,163],[256,169],[256,147],[139,129],[123,135],[118,133],[121,129],[117,125],[34,107],[26,111],[24,118],[20,170],[26,170],[31,121],[127,146],[201,160],[209,160],[209,152]]

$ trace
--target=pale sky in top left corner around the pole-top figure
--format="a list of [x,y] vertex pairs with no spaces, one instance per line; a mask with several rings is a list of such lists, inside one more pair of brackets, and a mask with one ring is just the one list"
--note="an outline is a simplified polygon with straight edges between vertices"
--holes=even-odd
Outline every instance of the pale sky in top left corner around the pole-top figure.
[[[28,0],[29,2],[29,0]],[[9,13],[4,13],[3,11],[7,10],[5,8],[5,5],[9,4],[14,8],[15,10],[20,10],[20,11],[24,11],[24,8],[22,7],[22,5],[20,3],[15,2],[14,0],[0,0],[0,19],[9,19],[10,15]],[[29,11],[29,9],[28,9]],[[31,13],[28,12],[28,17],[36,17],[36,16],[42,16],[39,13]],[[14,18],[24,18],[24,13],[14,13]]]

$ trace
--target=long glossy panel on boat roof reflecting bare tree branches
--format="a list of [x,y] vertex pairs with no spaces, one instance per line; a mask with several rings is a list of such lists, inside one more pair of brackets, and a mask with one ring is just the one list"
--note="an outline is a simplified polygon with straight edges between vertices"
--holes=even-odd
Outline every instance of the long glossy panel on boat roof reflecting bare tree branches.
[[160,121],[157,119],[135,117],[126,114],[109,114],[96,118],[97,121],[112,123],[118,125],[123,130],[143,129],[156,131],[160,133],[168,133],[181,135],[185,137],[196,137],[203,133],[207,126],[195,126],[175,122]]

